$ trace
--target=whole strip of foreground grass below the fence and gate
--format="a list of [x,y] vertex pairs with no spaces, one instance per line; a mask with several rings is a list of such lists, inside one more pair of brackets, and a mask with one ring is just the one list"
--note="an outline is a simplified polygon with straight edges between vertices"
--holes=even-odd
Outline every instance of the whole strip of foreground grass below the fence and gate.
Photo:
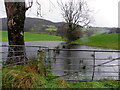
[[3,68],[3,88],[118,88],[119,81],[103,79],[90,82],[67,82],[41,77],[35,64]]

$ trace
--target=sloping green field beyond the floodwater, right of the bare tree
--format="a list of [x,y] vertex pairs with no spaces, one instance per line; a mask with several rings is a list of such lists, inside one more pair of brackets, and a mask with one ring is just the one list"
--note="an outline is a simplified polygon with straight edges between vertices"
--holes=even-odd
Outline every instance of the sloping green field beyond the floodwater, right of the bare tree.
[[120,49],[120,34],[112,33],[105,35],[91,36],[75,41],[76,44],[98,46],[111,49]]

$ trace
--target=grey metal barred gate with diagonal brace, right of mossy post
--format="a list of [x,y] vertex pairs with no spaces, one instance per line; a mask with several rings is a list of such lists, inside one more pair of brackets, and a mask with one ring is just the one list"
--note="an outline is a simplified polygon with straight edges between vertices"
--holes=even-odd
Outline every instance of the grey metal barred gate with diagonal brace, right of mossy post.
[[48,49],[48,76],[69,81],[120,80],[119,50]]

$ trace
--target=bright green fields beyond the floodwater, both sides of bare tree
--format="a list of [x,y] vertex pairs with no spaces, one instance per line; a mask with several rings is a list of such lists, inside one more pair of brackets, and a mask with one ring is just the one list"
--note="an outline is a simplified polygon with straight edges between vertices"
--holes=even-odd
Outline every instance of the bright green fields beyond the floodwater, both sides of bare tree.
[[[0,31],[2,34],[2,42],[7,40],[7,31]],[[97,46],[111,49],[120,49],[120,34],[112,33],[105,35],[95,35],[88,38],[81,38],[74,43],[88,46]],[[0,37],[1,40],[1,37]],[[25,41],[62,41],[61,37],[47,35],[47,34],[34,34],[25,32]]]

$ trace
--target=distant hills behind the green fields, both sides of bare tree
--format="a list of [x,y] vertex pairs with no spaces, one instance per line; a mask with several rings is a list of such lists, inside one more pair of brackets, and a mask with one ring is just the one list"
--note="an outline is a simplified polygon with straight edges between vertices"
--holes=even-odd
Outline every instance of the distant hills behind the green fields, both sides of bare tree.
[[[2,30],[7,30],[7,19],[0,18],[2,20]],[[24,29],[25,32],[40,33],[40,34],[50,34],[59,36],[61,30],[63,29],[64,22],[52,22],[40,18],[30,18],[27,17],[25,20]],[[120,33],[120,28],[110,28],[110,27],[89,27],[84,28],[85,36],[89,37],[96,34],[108,34],[108,33]]]

